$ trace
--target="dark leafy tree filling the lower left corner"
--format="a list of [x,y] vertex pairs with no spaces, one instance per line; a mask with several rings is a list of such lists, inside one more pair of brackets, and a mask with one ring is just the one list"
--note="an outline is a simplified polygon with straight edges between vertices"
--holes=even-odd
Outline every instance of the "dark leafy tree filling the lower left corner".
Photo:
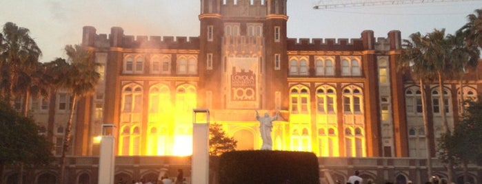
[[0,101],[0,183],[5,165],[46,165],[53,159],[51,148],[32,117]]

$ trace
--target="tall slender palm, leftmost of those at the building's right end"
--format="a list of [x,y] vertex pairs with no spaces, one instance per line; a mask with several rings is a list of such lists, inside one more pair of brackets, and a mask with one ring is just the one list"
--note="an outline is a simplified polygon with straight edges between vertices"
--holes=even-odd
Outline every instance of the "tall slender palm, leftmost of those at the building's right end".
[[427,120],[427,108],[425,97],[425,82],[431,81],[436,76],[436,68],[432,62],[427,60],[427,51],[430,43],[426,36],[419,32],[410,35],[410,40],[403,40],[403,49],[400,55],[398,68],[403,71],[410,71],[414,81],[418,81],[421,91],[423,129],[425,131],[425,148],[427,158],[427,174],[432,176],[432,152],[431,143],[428,137],[429,131]]

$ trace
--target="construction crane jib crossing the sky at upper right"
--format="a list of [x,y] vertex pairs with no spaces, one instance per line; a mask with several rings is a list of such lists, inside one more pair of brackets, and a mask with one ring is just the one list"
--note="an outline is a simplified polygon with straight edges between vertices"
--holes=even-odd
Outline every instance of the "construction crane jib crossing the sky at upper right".
[[334,8],[352,8],[360,6],[373,5],[402,5],[416,3],[443,3],[443,2],[459,2],[459,1],[480,1],[480,0],[320,0],[313,9],[334,9]]

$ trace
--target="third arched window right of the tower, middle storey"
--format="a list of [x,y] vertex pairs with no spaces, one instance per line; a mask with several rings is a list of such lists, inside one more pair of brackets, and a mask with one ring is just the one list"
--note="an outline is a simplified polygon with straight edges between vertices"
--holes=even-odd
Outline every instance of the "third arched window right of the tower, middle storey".
[[356,87],[343,89],[343,112],[359,114],[361,113],[361,89]]

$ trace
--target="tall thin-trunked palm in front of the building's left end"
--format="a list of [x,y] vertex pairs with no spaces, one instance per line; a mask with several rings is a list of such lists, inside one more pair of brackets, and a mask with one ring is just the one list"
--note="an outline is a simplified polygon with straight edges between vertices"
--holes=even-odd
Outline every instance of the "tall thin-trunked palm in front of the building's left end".
[[72,138],[72,118],[77,99],[86,95],[92,95],[100,78],[99,73],[95,71],[96,63],[93,60],[94,52],[92,50],[80,45],[67,45],[65,49],[70,65],[63,66],[65,67],[64,72],[66,72],[66,76],[59,78],[58,84],[59,87],[69,91],[72,97],[72,106],[63,139],[60,183],[65,183],[66,152]]

